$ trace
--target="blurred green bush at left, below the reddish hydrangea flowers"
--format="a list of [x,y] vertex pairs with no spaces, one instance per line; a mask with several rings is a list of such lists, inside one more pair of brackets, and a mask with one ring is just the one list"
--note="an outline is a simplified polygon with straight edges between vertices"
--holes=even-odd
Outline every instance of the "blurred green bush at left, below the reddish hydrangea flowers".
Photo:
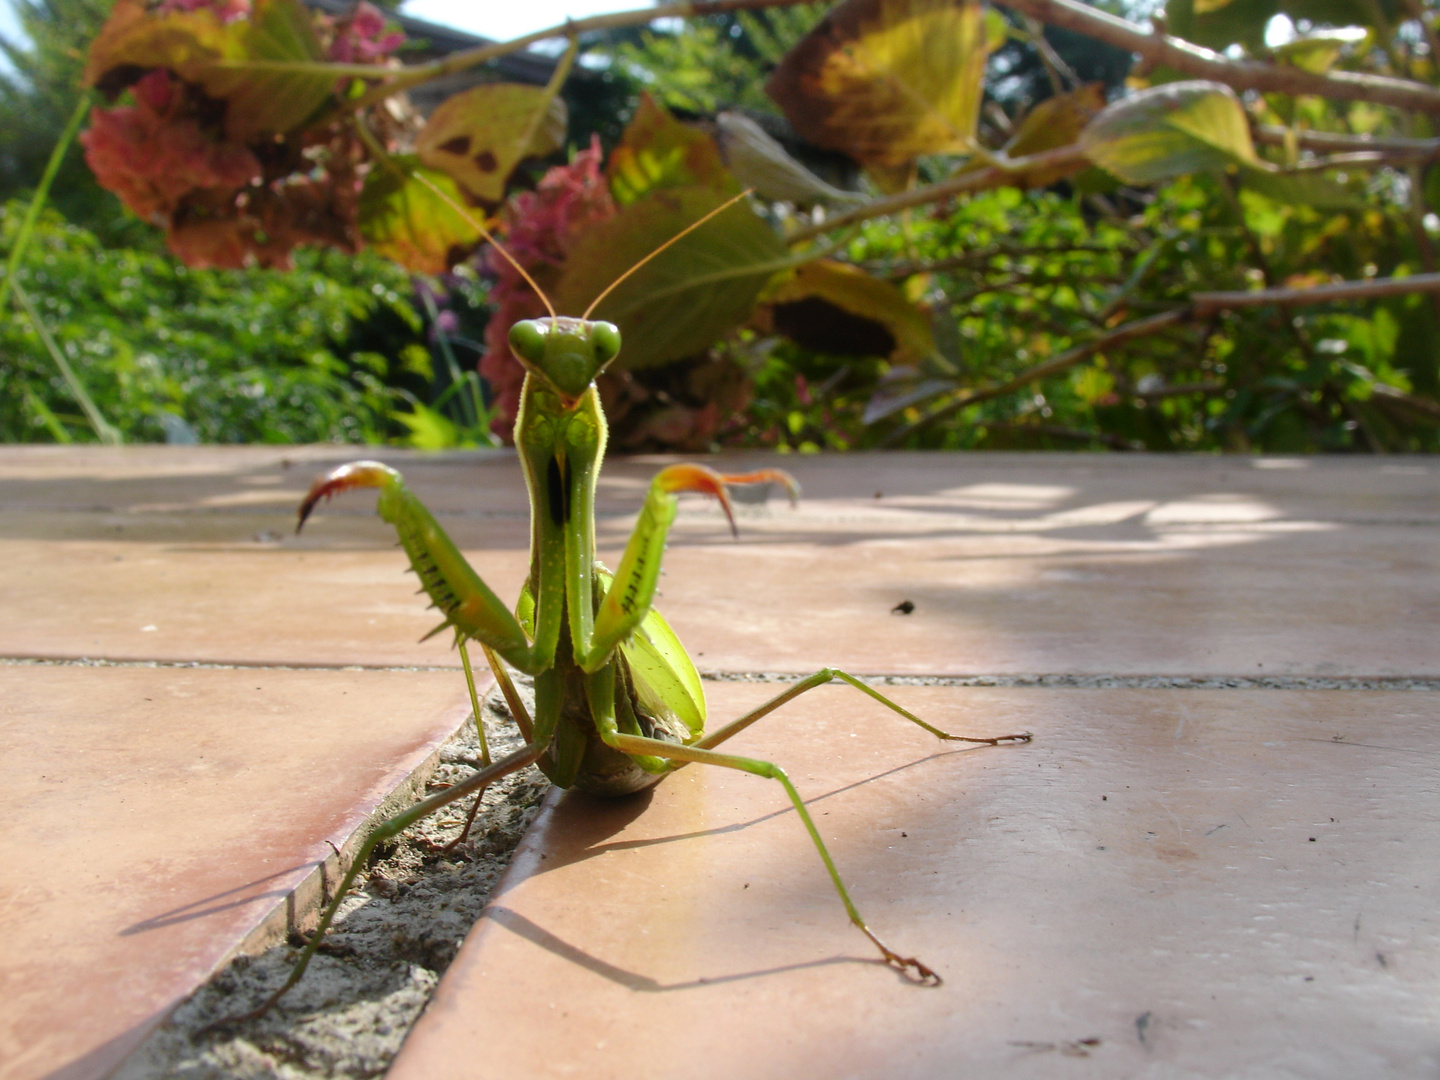
[[[0,209],[0,249],[23,210]],[[393,387],[433,377],[409,275],[372,255],[196,271],[48,210],[17,279],[127,441],[379,442]],[[0,439],[94,438],[23,314],[0,314]]]

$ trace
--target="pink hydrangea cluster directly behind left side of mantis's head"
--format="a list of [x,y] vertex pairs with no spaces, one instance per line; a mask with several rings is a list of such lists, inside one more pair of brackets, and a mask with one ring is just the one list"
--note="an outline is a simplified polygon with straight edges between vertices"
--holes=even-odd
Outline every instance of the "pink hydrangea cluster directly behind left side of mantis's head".
[[[566,253],[575,236],[595,222],[615,216],[615,200],[600,171],[600,140],[590,137],[567,166],[556,166],[534,192],[510,200],[507,210],[505,251],[539,282],[552,288],[560,278]],[[546,314],[544,304],[504,255],[485,252],[485,266],[495,275],[491,300],[495,305],[485,327],[485,356],[480,373],[495,395],[498,413],[494,431],[510,439],[520,409],[520,387],[526,372],[510,351],[510,327],[526,318]]]

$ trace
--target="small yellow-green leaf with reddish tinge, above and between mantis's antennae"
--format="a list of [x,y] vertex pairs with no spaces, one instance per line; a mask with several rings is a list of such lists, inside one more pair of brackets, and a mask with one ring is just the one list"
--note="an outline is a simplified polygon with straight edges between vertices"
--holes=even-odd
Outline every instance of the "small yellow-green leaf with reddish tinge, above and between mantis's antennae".
[[635,117],[611,151],[605,174],[621,206],[665,187],[711,187],[726,196],[740,192],[716,141],[681,124],[648,94],[641,95]]

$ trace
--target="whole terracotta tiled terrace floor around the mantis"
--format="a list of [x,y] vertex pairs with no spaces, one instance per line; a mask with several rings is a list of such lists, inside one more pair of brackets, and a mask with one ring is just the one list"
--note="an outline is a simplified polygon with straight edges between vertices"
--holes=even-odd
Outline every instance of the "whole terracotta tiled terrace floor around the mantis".
[[[107,1074],[467,714],[372,500],[291,534],[347,456],[0,449],[0,1076]],[[514,596],[513,458],[387,459]],[[783,464],[740,543],[681,511],[701,670],[940,677],[893,693],[1035,733],[829,687],[734,743],[945,985],[871,962],[776,785],[687,769],[553,801],[393,1077],[1440,1070],[1440,464]],[[655,468],[608,467],[602,556]]]

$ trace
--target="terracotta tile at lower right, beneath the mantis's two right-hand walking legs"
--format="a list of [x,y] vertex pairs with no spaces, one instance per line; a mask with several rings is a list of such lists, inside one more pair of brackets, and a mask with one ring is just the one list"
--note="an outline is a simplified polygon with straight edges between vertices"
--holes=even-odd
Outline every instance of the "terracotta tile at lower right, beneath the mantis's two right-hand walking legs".
[[390,1080],[1440,1067],[1434,694],[896,694],[1035,742],[948,750],[827,688],[734,749],[942,988],[874,960],[778,785],[691,768],[541,818]]

